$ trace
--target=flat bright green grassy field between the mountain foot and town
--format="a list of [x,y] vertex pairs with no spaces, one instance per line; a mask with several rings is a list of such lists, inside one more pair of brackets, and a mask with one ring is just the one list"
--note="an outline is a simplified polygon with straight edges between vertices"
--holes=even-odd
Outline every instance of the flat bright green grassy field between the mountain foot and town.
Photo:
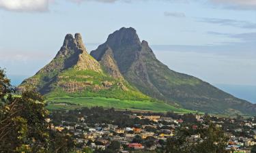
[[48,99],[47,108],[52,109],[76,109],[81,107],[102,106],[105,108],[133,109],[152,112],[191,112],[188,109],[176,108],[166,103],[151,101],[127,101],[119,99],[107,99],[104,97],[55,97]]

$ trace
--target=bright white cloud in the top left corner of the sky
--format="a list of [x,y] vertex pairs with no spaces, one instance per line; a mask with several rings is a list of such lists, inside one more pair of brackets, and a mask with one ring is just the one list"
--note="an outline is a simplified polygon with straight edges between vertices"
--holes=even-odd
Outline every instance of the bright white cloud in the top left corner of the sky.
[[44,12],[51,0],[0,0],[0,8],[16,12]]

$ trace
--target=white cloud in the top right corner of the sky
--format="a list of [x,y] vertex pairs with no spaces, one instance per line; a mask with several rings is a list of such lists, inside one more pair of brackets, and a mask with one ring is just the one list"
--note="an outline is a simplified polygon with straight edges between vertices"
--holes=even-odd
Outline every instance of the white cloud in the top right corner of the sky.
[[256,10],[256,0],[209,0],[212,3],[234,9]]

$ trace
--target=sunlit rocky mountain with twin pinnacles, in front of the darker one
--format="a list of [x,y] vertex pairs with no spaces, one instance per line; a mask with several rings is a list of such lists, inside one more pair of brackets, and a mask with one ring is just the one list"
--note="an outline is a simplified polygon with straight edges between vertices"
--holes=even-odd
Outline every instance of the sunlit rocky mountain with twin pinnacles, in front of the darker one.
[[[79,33],[66,35],[63,46],[53,60],[18,86],[23,90],[31,84],[46,97],[111,97],[147,100],[137,88],[124,80],[110,48],[96,61],[83,44]],[[103,66],[101,66],[103,65]]]

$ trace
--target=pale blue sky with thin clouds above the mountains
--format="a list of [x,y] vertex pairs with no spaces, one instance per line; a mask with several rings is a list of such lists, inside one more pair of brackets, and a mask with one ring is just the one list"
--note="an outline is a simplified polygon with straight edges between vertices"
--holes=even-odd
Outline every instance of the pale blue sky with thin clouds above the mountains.
[[66,33],[81,33],[90,51],[121,27],[175,71],[256,86],[256,0],[0,0],[0,67],[25,78]]

